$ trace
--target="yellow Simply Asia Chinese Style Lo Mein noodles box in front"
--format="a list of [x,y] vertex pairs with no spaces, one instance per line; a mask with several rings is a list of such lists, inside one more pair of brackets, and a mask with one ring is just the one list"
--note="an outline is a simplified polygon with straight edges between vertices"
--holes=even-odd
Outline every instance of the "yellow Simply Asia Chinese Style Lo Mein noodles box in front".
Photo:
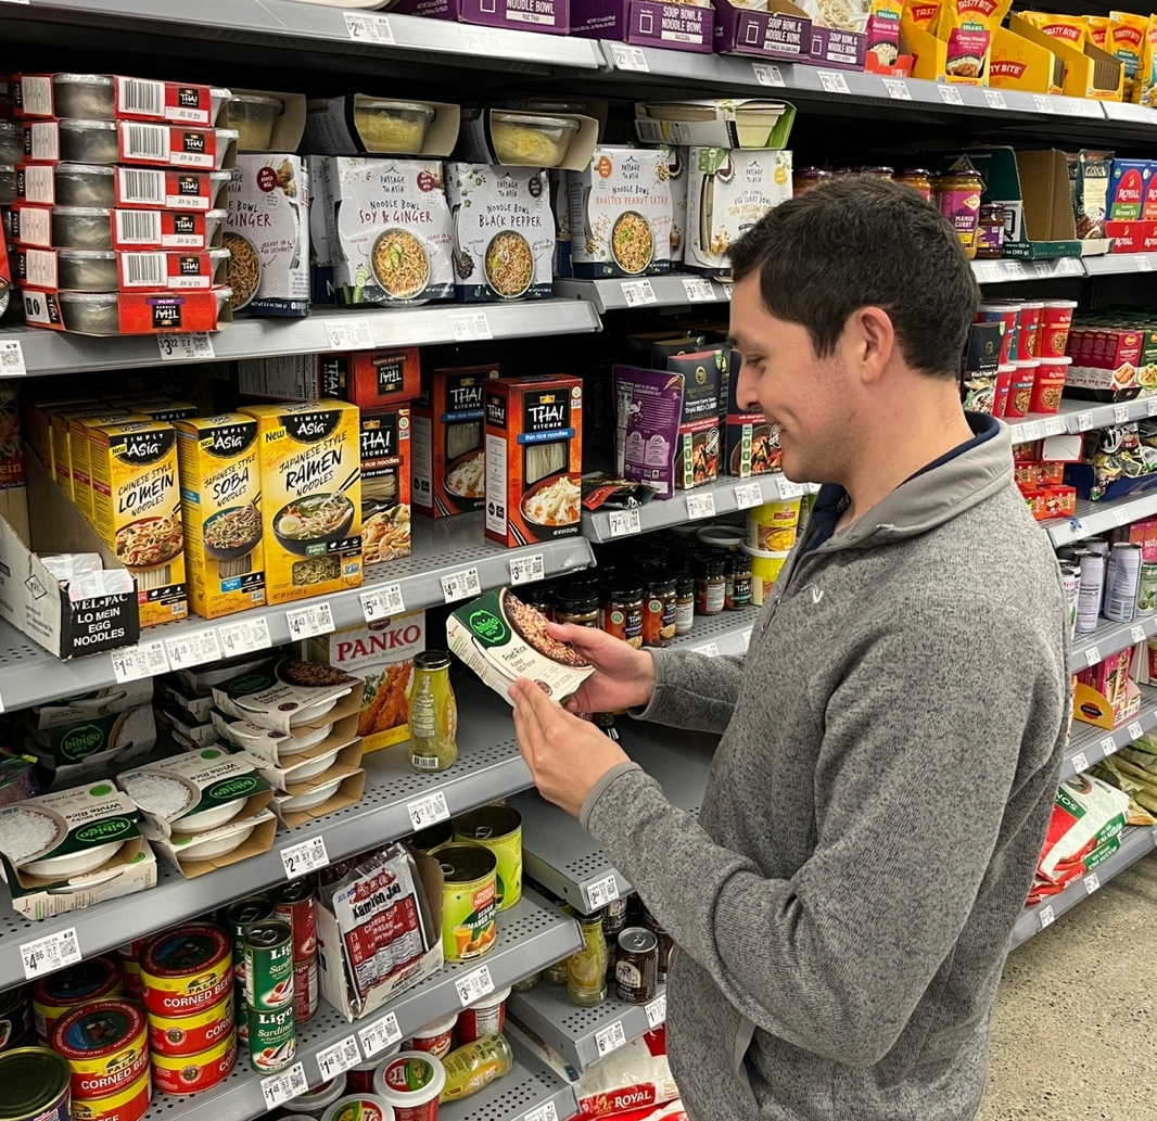
[[184,619],[185,533],[177,433],[165,421],[89,429],[93,525],[137,585],[140,625]]

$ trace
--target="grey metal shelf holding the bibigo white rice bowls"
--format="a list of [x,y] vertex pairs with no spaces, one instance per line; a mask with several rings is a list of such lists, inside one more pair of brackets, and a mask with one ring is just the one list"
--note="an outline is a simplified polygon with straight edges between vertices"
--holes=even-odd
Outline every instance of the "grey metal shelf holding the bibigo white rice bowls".
[[[456,677],[459,703],[480,707],[488,691]],[[413,832],[410,804],[441,791],[450,816],[525,790],[530,772],[518,754],[513,725],[496,720],[463,721],[458,727],[458,761],[444,774],[419,774],[410,766],[408,742],[366,757],[366,792],[353,806],[294,829],[281,829],[268,853],[186,880],[163,858],[160,883],[147,892],[110,899],[86,910],[29,922],[0,904],[0,989],[24,980],[21,954],[27,942],[76,928],[84,957],[102,953],[162,927],[192,919],[243,895],[285,880],[281,850],[315,836],[325,839],[331,861]],[[552,959],[553,960],[553,959]],[[533,969],[526,969],[532,973]]]

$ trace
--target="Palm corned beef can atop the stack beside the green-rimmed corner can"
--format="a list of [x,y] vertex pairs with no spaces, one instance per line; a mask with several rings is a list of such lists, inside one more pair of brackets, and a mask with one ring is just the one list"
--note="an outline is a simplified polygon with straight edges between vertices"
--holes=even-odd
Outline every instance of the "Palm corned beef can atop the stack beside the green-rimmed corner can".
[[52,1028],[52,1049],[68,1063],[74,1105],[117,1096],[148,1075],[145,1013],[130,1001],[73,1009]]

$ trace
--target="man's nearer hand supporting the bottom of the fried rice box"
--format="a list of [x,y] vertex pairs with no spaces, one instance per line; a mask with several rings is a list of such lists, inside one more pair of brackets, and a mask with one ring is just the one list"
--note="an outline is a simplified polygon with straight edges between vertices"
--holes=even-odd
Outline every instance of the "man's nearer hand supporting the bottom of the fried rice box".
[[[625,646],[618,639],[611,641]],[[528,678],[515,681],[509,696],[514,702],[518,751],[539,794],[578,817],[595,783],[617,764],[629,759],[594,724],[572,716]]]

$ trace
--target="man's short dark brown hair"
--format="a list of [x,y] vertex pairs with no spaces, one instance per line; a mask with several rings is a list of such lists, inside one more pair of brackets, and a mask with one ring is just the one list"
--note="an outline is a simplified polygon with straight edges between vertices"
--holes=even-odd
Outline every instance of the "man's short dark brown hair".
[[758,271],[767,310],[805,327],[818,356],[874,305],[909,366],[958,376],[980,289],[956,231],[912,187],[872,175],[812,187],[768,211],[730,258],[736,280]]

